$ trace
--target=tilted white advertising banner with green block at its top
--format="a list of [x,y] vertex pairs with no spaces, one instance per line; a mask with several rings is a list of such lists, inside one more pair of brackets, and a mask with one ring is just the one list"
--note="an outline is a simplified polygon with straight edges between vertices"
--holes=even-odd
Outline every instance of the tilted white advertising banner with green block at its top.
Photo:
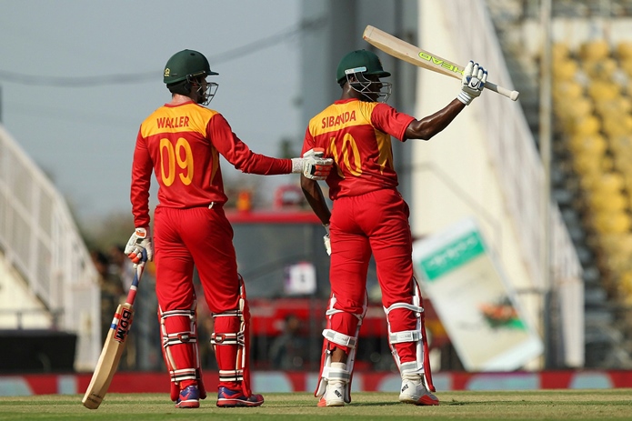
[[413,261],[467,371],[516,370],[542,354],[473,219],[416,241]]

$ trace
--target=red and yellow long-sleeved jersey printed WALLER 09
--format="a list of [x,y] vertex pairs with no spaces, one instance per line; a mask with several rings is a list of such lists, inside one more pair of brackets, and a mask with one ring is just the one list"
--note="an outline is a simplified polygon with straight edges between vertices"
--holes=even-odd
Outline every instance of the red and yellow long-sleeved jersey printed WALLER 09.
[[158,181],[160,206],[188,208],[226,203],[219,155],[244,173],[289,174],[290,159],[252,152],[223,115],[187,102],[164,105],[149,115],[136,137],[132,164],[135,226],[149,225],[149,185]]

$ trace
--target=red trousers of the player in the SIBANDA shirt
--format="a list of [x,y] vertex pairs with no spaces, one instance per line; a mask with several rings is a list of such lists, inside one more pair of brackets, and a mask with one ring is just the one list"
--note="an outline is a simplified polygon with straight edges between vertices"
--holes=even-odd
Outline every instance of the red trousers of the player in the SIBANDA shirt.
[[[382,305],[412,304],[412,236],[409,209],[395,189],[382,189],[365,195],[339,197],[330,219],[331,292],[334,307],[361,315],[366,291],[366,275],[371,253],[376,260],[377,280]],[[348,336],[356,335],[356,317],[334,315],[331,328]],[[392,332],[416,329],[416,316],[398,308],[390,312]],[[396,344],[402,362],[416,361],[416,344]]]

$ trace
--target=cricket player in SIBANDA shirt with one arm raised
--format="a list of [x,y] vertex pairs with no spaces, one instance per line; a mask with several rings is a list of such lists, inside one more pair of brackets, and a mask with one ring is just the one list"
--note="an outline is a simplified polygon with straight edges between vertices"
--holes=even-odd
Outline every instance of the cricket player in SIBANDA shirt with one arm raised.
[[[325,246],[331,256],[331,297],[321,370],[316,386],[318,406],[351,402],[354,359],[366,313],[366,274],[375,257],[388,342],[402,377],[399,401],[438,405],[428,362],[424,306],[413,274],[412,235],[408,205],[397,191],[391,136],[428,140],[449,125],[481,94],[487,71],[469,62],[456,99],[421,120],[386,105],[390,76],[374,53],[357,50],[337,67],[342,96],[312,118],[303,151],[325,150],[336,163],[326,178],[330,212],[315,180],[301,177],[306,199],[326,227]],[[381,100],[378,102],[378,100]]]

